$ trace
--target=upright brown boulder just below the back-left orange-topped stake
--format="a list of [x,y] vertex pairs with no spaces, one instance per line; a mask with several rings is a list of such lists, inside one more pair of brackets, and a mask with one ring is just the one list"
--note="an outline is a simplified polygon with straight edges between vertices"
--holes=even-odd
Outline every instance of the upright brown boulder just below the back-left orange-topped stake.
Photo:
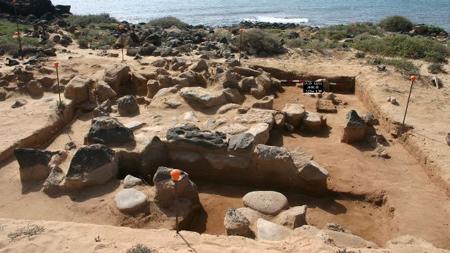
[[130,67],[126,64],[116,64],[105,72],[103,80],[117,94],[125,94],[130,89]]

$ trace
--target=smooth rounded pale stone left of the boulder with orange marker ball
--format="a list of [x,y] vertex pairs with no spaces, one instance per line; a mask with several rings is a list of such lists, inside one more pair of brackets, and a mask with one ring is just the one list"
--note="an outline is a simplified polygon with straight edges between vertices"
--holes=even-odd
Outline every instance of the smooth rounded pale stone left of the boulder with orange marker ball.
[[138,212],[147,203],[147,195],[136,189],[124,189],[116,194],[114,201],[117,208],[124,213]]

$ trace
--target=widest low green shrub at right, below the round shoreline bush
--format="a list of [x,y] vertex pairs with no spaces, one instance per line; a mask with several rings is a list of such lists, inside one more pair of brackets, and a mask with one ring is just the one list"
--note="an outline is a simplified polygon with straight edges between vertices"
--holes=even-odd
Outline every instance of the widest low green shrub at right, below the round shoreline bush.
[[446,62],[450,50],[445,45],[424,37],[391,35],[383,38],[364,36],[353,47],[373,54],[389,57],[424,59],[430,62]]

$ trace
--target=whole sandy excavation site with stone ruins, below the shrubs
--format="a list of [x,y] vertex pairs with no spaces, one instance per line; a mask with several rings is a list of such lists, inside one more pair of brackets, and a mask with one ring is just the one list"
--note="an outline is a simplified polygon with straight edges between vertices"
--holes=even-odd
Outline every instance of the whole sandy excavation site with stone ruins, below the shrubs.
[[0,252],[448,252],[448,87],[128,51],[0,65]]

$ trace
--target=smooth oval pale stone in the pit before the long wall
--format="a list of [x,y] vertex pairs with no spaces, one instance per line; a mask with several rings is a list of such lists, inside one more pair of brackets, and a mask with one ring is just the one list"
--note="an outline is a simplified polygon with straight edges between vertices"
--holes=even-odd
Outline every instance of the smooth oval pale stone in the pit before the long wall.
[[274,191],[249,192],[243,201],[244,206],[269,215],[276,215],[289,205],[286,196]]

